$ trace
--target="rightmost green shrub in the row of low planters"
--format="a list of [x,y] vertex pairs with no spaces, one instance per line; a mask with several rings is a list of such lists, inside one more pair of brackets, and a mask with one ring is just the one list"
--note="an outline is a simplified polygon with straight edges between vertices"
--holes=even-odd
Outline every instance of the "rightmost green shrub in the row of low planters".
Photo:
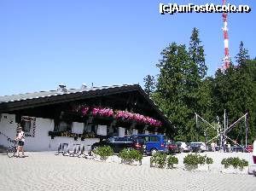
[[239,159],[238,157],[230,157],[222,159],[221,165],[224,165],[224,168],[227,169],[230,166],[233,166],[234,169],[239,169],[242,171],[245,166],[248,166],[248,161],[245,159]]

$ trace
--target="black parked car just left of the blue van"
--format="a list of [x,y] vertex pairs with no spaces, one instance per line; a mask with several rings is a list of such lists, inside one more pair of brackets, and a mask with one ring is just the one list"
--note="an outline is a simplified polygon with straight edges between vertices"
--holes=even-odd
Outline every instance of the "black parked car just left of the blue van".
[[91,149],[93,150],[97,147],[102,146],[110,146],[111,148],[113,148],[113,153],[119,153],[124,148],[134,148],[138,150],[140,153],[144,153],[146,148],[143,139],[137,136],[109,137],[107,140],[94,143],[91,146]]

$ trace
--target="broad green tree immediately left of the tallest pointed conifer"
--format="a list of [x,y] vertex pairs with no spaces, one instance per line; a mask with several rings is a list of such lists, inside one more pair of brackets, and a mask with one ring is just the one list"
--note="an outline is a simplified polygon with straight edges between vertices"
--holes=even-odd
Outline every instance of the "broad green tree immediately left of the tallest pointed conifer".
[[160,74],[153,99],[177,130],[176,138],[195,140],[194,101],[197,66],[185,45],[170,44],[161,52]]

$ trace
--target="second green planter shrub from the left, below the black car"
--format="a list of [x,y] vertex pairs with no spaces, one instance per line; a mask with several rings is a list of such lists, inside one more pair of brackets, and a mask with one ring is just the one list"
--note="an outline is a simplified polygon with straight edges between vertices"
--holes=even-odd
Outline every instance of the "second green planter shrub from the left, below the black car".
[[139,165],[142,165],[143,154],[135,149],[124,148],[120,151],[119,158],[122,163],[128,165],[133,164],[135,161],[139,162]]

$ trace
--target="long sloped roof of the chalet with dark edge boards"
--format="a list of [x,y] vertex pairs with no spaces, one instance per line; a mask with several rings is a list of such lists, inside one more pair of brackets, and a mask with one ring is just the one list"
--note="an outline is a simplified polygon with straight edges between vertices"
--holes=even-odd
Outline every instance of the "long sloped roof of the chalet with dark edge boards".
[[153,107],[158,114],[160,114],[165,124],[172,128],[171,122],[138,84],[123,84],[91,88],[82,86],[80,89],[60,88],[58,90],[39,91],[12,96],[0,96],[0,113],[8,113],[29,107],[45,106],[54,103],[80,100],[95,96],[107,96],[131,91],[138,91],[146,99],[146,101],[148,101],[148,104],[151,105],[151,107]]

